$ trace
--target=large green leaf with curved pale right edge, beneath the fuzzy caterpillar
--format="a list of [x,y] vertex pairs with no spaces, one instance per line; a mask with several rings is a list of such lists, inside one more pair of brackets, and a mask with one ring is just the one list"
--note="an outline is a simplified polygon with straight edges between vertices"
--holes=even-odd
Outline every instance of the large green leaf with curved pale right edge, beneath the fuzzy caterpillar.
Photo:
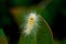
[[22,14],[21,16],[22,18],[20,18],[19,22],[22,22],[20,23],[20,25],[22,25],[22,29],[20,29],[21,36],[19,40],[19,44],[53,44],[52,31],[44,18],[36,14],[36,16],[38,16],[36,22],[37,25],[35,24],[34,29],[32,29],[33,31],[35,31],[35,33],[33,33],[32,31],[30,35],[25,35],[23,34],[23,30],[25,30],[23,28],[25,28],[26,25],[25,20],[29,14]]

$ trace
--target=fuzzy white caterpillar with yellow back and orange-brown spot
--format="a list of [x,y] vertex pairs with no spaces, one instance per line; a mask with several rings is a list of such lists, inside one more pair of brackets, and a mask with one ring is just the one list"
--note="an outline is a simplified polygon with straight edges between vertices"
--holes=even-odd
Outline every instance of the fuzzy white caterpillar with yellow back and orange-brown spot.
[[34,30],[34,25],[36,24],[36,22],[37,22],[36,13],[31,12],[29,18],[28,18],[28,23],[26,23],[25,30],[24,30],[24,33],[26,35],[31,34],[32,31],[33,31],[33,33],[36,31],[36,30]]

